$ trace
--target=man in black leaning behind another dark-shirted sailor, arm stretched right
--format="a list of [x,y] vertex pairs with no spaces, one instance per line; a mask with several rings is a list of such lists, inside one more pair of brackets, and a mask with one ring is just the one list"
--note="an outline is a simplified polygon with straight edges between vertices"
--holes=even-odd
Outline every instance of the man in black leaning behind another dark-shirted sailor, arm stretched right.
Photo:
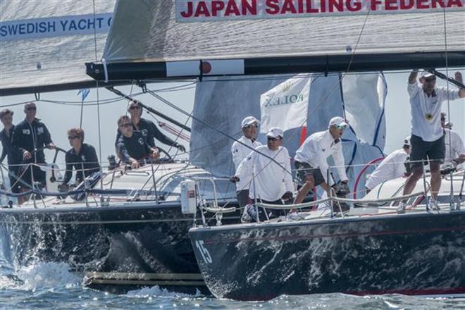
[[[185,153],[186,149],[182,144],[175,142],[170,137],[163,135],[163,133],[156,127],[154,122],[151,120],[147,120],[142,118],[142,106],[137,103],[137,101],[130,101],[130,105],[128,108],[128,112],[131,116],[131,123],[134,130],[138,130],[144,135],[145,139],[147,140],[147,144],[150,147],[155,147],[155,140],[159,140],[159,142],[163,144],[170,145],[179,149],[182,153]],[[116,143],[118,143],[118,139],[120,138],[120,131],[118,130],[116,134]]]

